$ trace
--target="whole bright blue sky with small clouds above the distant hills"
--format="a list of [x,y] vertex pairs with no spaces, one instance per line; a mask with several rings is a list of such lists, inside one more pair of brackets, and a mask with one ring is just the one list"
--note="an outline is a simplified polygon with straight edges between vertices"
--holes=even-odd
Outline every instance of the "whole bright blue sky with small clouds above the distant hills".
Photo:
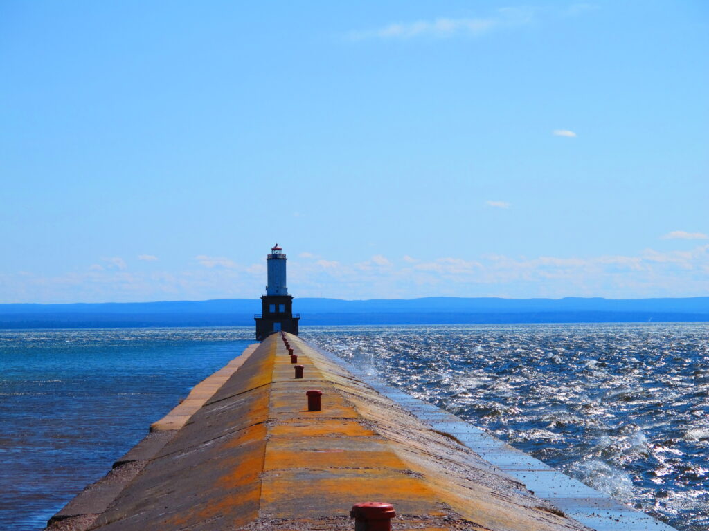
[[709,4],[0,3],[0,302],[709,295]]

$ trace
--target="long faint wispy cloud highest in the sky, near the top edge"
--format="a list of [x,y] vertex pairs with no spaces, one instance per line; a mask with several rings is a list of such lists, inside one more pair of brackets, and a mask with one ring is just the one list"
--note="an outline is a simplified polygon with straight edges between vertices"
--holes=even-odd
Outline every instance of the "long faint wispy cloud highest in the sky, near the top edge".
[[534,9],[528,7],[501,8],[492,16],[487,17],[439,16],[430,20],[394,22],[372,30],[351,31],[347,34],[347,38],[350,40],[404,40],[417,37],[477,37],[496,28],[529,23],[532,21],[533,13]]

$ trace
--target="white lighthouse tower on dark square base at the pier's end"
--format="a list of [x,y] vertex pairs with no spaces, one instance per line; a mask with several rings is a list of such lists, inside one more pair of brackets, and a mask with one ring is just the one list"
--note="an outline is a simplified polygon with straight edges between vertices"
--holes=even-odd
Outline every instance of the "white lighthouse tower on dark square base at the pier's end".
[[274,332],[284,331],[298,335],[299,314],[293,314],[293,297],[286,285],[286,255],[278,244],[266,257],[268,284],[266,295],[261,297],[262,313],[254,316],[256,339],[263,341]]

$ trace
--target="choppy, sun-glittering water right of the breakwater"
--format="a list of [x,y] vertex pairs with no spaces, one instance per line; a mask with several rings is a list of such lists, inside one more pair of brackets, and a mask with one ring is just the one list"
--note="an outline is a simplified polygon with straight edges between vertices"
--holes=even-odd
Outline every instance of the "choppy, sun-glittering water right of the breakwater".
[[709,324],[301,336],[679,530],[709,529]]

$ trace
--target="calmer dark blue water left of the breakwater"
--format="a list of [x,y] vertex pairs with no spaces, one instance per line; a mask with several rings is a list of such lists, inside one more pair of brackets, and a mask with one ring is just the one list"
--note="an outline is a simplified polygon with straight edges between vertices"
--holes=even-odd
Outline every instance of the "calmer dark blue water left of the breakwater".
[[38,530],[251,328],[0,331],[0,530]]

